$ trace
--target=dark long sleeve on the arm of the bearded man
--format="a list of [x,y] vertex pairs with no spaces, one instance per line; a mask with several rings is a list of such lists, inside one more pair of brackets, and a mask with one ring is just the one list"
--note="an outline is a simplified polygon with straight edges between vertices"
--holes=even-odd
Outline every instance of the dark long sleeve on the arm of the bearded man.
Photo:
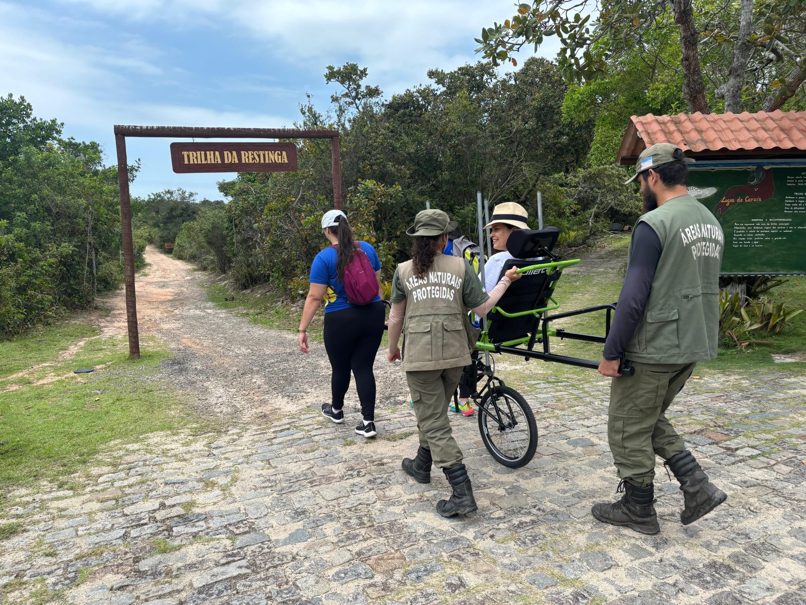
[[618,297],[616,315],[605,342],[605,359],[623,359],[627,344],[641,321],[650,297],[655,269],[663,247],[658,234],[646,223],[638,223],[633,232],[632,252],[627,274]]

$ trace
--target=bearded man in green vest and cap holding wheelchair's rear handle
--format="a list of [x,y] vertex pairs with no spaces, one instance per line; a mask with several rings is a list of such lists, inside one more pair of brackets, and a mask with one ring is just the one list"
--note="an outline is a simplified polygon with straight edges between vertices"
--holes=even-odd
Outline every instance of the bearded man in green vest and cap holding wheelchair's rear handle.
[[[669,143],[647,148],[635,174],[644,202],[599,372],[613,377],[608,440],[624,496],[596,504],[596,519],[637,532],[660,531],[654,510],[655,456],[675,474],[688,525],[725,502],[725,492],[685,449],[666,417],[697,361],[717,357],[719,269],[725,240],[713,215],[688,195],[687,162]],[[635,368],[619,378],[620,360]]]

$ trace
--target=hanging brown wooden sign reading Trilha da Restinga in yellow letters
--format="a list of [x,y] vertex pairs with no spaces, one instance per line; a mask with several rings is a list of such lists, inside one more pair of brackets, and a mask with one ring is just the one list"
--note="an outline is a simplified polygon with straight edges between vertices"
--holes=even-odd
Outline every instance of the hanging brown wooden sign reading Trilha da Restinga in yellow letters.
[[276,173],[297,169],[293,143],[172,143],[175,173]]

